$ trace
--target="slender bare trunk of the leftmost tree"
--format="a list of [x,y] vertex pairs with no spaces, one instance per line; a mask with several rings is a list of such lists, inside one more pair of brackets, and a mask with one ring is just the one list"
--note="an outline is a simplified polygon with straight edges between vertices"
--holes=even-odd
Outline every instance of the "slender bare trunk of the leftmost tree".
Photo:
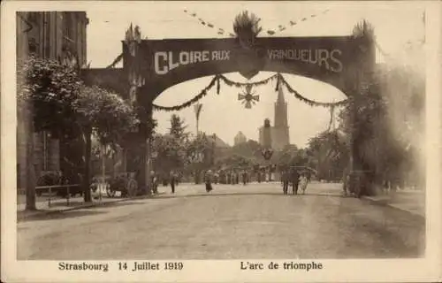
[[35,206],[35,164],[34,164],[34,120],[32,111],[28,111],[27,119],[27,182],[26,195],[27,205],[26,210],[36,210]]

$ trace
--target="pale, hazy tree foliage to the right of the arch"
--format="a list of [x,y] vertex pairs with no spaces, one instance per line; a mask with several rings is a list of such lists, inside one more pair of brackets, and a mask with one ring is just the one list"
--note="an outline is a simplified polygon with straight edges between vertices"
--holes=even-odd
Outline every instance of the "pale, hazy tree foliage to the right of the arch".
[[[373,182],[408,179],[414,166],[414,141],[423,126],[424,83],[419,74],[403,66],[381,65],[368,91],[357,96],[356,114],[348,105],[339,117],[342,133],[354,133],[362,170]],[[410,171],[411,170],[411,171]],[[408,175],[408,176],[407,176]]]

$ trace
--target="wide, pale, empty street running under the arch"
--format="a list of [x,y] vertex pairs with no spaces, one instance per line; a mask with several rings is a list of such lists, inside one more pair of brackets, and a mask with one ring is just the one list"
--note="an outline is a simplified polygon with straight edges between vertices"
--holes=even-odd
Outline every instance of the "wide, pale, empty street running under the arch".
[[374,258],[423,253],[424,220],[312,183],[169,187],[154,199],[18,223],[19,259]]

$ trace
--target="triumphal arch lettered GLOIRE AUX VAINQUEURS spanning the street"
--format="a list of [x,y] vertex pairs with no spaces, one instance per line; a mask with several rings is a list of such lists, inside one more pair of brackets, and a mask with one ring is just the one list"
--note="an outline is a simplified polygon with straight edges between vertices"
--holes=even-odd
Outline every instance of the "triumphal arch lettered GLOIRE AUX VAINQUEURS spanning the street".
[[[247,14],[247,13],[246,13]],[[244,17],[243,13],[242,17]],[[247,16],[247,15],[246,15]],[[133,140],[145,146],[142,180],[149,180],[149,120],[153,111],[179,111],[197,103],[211,88],[217,93],[221,86],[250,88],[267,83],[285,87],[289,93],[305,103],[334,107],[348,103],[356,118],[358,96],[368,91],[375,65],[373,34],[363,22],[347,36],[320,37],[261,37],[255,27],[234,26],[232,38],[214,39],[141,39],[138,27],[132,25],[122,41],[122,68],[112,65],[104,69],[83,70],[84,80],[103,88],[110,88],[130,100],[140,111],[141,126],[133,133]],[[275,73],[271,77],[254,81],[261,71]],[[223,73],[238,72],[249,82],[240,83],[227,79]],[[339,88],[347,99],[337,103],[309,100],[299,94],[285,80],[285,74],[300,75],[320,80]],[[155,99],[165,89],[180,82],[213,76],[209,85],[194,98],[179,105],[164,107],[156,105]],[[197,91],[196,91],[197,92]],[[246,99],[253,99],[248,96]],[[350,176],[363,172],[359,154],[359,131],[353,126],[350,142]],[[351,186],[360,187],[354,182]]]

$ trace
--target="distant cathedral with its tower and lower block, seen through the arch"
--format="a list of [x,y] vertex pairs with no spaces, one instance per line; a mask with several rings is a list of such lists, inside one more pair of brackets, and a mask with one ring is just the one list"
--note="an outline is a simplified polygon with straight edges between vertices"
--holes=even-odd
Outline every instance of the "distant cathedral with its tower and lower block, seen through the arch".
[[[270,126],[269,119],[265,119],[264,123],[269,123]],[[259,143],[261,145],[270,145],[272,149],[284,149],[286,145],[290,144],[287,103],[282,88],[278,89],[278,98],[275,103],[275,125],[270,126],[267,131],[264,126],[259,128]]]

